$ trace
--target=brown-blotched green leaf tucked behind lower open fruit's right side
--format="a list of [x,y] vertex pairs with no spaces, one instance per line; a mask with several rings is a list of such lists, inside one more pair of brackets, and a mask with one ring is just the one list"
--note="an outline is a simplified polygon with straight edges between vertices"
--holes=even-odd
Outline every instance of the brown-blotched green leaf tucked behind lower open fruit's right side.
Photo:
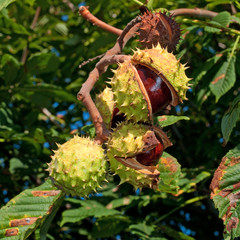
[[162,192],[177,193],[179,178],[181,175],[181,166],[177,159],[164,152],[158,163],[159,190]]

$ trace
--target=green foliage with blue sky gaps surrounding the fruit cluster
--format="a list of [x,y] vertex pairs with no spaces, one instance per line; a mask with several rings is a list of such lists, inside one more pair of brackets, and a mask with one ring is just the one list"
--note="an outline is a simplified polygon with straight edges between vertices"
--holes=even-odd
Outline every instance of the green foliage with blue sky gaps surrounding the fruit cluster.
[[[139,14],[136,0],[69,3],[0,0],[0,206],[45,182],[46,163],[56,142],[63,143],[73,134],[94,134],[89,114],[76,94],[95,62],[81,69],[78,66],[112,47],[117,36],[84,20],[78,7],[89,6],[99,19],[120,29]],[[135,192],[128,184],[118,186],[117,176],[109,176],[109,183],[98,194],[84,200],[63,197],[46,181],[0,210],[1,238],[8,221],[29,216],[34,222],[31,229],[26,225],[19,228],[18,237],[6,239],[212,240],[223,238],[219,216],[225,216],[225,224],[233,221],[232,214],[239,219],[238,162],[225,166],[217,186],[213,199],[219,212],[209,190],[221,159],[226,154],[227,159],[239,159],[240,155],[239,2],[150,0],[148,7],[198,7],[220,13],[214,19],[176,19],[181,23],[182,39],[175,54],[182,57],[182,63],[188,62],[192,90],[187,93],[189,101],[160,113],[173,115],[167,122],[159,116],[156,123],[174,144],[167,152],[181,164],[180,190],[175,194],[149,189]],[[125,52],[131,53],[135,46],[135,41],[129,42]],[[93,95],[103,90],[111,75],[108,71],[101,76]],[[232,186],[236,205],[232,198],[219,194],[229,192]],[[39,190],[47,195],[33,198]],[[32,199],[31,207],[26,199]],[[224,231],[226,239],[240,236],[238,224],[228,230]]]

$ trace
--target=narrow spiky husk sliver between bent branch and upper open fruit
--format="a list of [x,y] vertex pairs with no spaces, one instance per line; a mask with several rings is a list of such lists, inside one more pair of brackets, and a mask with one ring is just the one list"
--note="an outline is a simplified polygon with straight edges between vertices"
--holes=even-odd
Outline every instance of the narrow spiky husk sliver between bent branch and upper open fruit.
[[98,94],[96,96],[95,104],[103,118],[103,122],[106,124],[106,127],[110,129],[114,110],[112,89],[106,87],[102,93]]

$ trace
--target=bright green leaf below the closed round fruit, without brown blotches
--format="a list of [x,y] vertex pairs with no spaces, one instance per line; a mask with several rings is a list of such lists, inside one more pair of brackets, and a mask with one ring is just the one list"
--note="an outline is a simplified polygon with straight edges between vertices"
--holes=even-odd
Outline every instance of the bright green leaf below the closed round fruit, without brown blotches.
[[85,219],[90,216],[97,218],[120,214],[119,211],[114,209],[108,209],[104,207],[102,204],[92,200],[81,201],[81,205],[82,207],[80,208],[64,211],[62,213],[62,221],[60,225],[63,226],[65,223],[69,222],[71,223],[79,222],[82,219]]

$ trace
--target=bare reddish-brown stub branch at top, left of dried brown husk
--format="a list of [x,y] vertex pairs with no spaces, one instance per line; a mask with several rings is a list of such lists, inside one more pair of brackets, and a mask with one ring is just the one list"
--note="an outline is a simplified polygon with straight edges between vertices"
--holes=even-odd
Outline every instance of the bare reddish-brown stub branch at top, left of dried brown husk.
[[79,14],[82,15],[82,17],[84,17],[85,19],[87,19],[88,21],[90,21],[91,23],[93,23],[94,25],[104,29],[107,32],[111,32],[115,35],[121,35],[122,30],[115,28],[101,20],[99,20],[98,18],[96,18],[95,16],[93,16],[86,7],[81,6],[79,8]]

